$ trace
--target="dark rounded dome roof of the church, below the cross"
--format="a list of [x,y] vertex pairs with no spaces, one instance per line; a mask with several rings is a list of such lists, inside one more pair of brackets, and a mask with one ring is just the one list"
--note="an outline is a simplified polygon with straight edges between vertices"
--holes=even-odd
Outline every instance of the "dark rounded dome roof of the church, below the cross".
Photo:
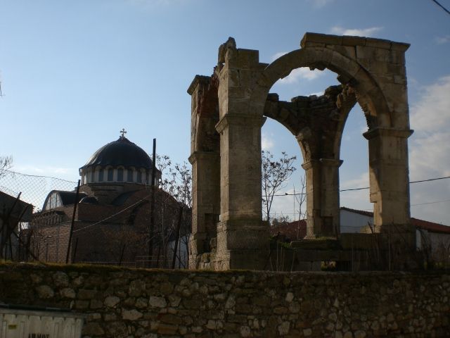
[[141,147],[121,136],[117,141],[105,144],[89,158],[89,161],[80,169],[100,165],[113,167],[123,165],[125,168],[152,168],[150,156]]

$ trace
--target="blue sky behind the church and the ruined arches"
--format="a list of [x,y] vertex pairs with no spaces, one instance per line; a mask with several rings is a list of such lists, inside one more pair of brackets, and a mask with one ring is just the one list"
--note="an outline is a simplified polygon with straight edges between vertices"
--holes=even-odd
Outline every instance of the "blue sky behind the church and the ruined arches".
[[[450,8],[450,0],[441,0]],[[219,45],[258,49],[262,62],[300,46],[304,32],[408,42],[411,180],[450,175],[450,15],[431,0],[0,0],[0,155],[20,173],[78,179],[96,149],[119,136],[176,162],[189,156],[195,74],[210,75]],[[281,99],[323,92],[329,71],[298,70],[275,84]],[[355,107],[342,142],[341,187],[366,187],[364,117]],[[268,121],[263,146],[302,159]],[[297,170],[285,191],[298,189]],[[411,185],[411,214],[450,225],[450,180]],[[432,203],[436,201],[444,201]],[[427,204],[424,204],[427,203]],[[420,205],[415,205],[420,204]],[[368,192],[341,205],[370,209]],[[280,197],[274,211],[293,213]]]

